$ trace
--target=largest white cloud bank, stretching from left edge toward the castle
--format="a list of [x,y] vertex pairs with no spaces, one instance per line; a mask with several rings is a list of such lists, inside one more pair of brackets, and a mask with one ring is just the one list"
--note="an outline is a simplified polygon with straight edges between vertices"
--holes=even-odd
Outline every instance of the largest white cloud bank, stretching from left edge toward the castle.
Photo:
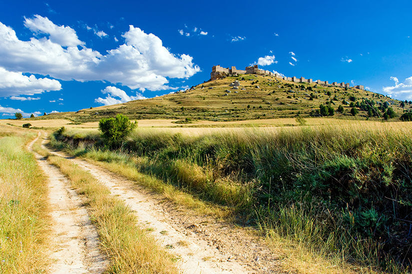
[[[34,19],[26,20],[35,21],[40,17],[35,15]],[[41,20],[44,19],[47,18]],[[54,24],[49,27],[55,28],[71,30]],[[73,42],[75,32],[67,33],[71,43],[62,38],[57,41],[57,36],[50,33],[49,38],[32,37],[28,41],[22,41],[11,27],[0,22],[0,66],[9,71],[50,75],[67,81],[74,79],[121,83],[141,91],[169,89],[166,85],[167,78],[188,78],[200,71],[193,64],[191,56],[171,53],[159,37],[147,34],[133,25],[122,35],[125,43],[108,50],[105,55],[85,46],[74,46],[79,44]]]

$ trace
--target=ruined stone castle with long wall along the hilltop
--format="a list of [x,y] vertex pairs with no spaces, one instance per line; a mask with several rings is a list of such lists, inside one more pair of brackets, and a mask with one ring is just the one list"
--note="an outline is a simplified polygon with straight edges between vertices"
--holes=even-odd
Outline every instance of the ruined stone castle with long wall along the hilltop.
[[[318,85],[331,85],[331,86],[338,86],[342,88],[350,88],[351,86],[349,83],[338,83],[338,82],[333,82],[332,84],[329,84],[328,81],[321,81],[321,80],[316,80],[313,81],[312,79],[305,79],[304,77],[286,77],[286,76],[281,76],[277,73],[270,72],[269,70],[263,70],[258,67],[258,65],[253,65],[246,67],[245,70],[239,70],[236,69],[235,66],[232,66],[230,68],[223,68],[219,65],[213,66],[212,67],[212,72],[210,73],[210,80],[216,80],[219,78],[224,78],[228,75],[240,75],[240,74],[258,74],[258,75],[267,75],[267,76],[274,76],[276,78],[280,78],[285,81],[291,81],[295,83],[316,83]],[[354,86],[356,89],[361,89],[364,90],[365,87],[363,85],[357,85]]]

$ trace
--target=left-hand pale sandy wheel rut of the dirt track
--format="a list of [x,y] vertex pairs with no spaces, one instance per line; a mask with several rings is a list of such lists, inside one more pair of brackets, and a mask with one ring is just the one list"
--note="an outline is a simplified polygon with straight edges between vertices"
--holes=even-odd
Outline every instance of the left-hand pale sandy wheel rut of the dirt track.
[[[37,136],[27,146],[32,150]],[[90,222],[82,200],[59,169],[44,157],[33,152],[38,165],[48,176],[49,205],[51,211],[52,266],[54,274],[102,273],[107,265],[98,249],[98,235]]]

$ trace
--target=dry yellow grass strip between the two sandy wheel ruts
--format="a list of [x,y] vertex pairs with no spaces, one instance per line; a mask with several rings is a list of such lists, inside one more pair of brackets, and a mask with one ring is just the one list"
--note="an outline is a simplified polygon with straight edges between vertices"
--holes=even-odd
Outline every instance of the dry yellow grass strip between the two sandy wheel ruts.
[[101,248],[108,255],[107,273],[179,273],[173,257],[145,230],[136,226],[132,211],[90,173],[64,158],[49,155],[70,179],[73,187],[88,199],[90,216],[100,236]]

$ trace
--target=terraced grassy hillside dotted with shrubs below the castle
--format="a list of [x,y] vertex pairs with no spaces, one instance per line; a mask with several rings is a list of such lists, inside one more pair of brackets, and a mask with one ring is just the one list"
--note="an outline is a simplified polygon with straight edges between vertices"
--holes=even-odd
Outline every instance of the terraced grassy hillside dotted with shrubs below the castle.
[[[238,80],[240,86],[230,84]],[[351,100],[352,99],[352,100]],[[368,101],[365,101],[367,100]],[[345,103],[343,103],[346,101]],[[380,104],[388,102],[399,117],[410,111],[412,104],[401,102],[370,91],[355,88],[344,89],[309,83],[293,83],[275,77],[241,75],[205,82],[193,89],[156,98],[130,101],[124,104],[79,110],[76,113],[57,113],[35,119],[66,118],[74,122],[97,121],[117,113],[131,119],[179,119],[237,121],[253,119],[320,116],[321,104],[330,104],[335,110],[333,117],[353,118],[350,103],[356,104],[359,114],[356,119],[366,119],[368,109],[377,107],[371,117],[383,116]],[[363,102],[363,104],[362,104]],[[338,112],[339,105],[344,112]],[[369,106],[369,107],[368,107]]]

